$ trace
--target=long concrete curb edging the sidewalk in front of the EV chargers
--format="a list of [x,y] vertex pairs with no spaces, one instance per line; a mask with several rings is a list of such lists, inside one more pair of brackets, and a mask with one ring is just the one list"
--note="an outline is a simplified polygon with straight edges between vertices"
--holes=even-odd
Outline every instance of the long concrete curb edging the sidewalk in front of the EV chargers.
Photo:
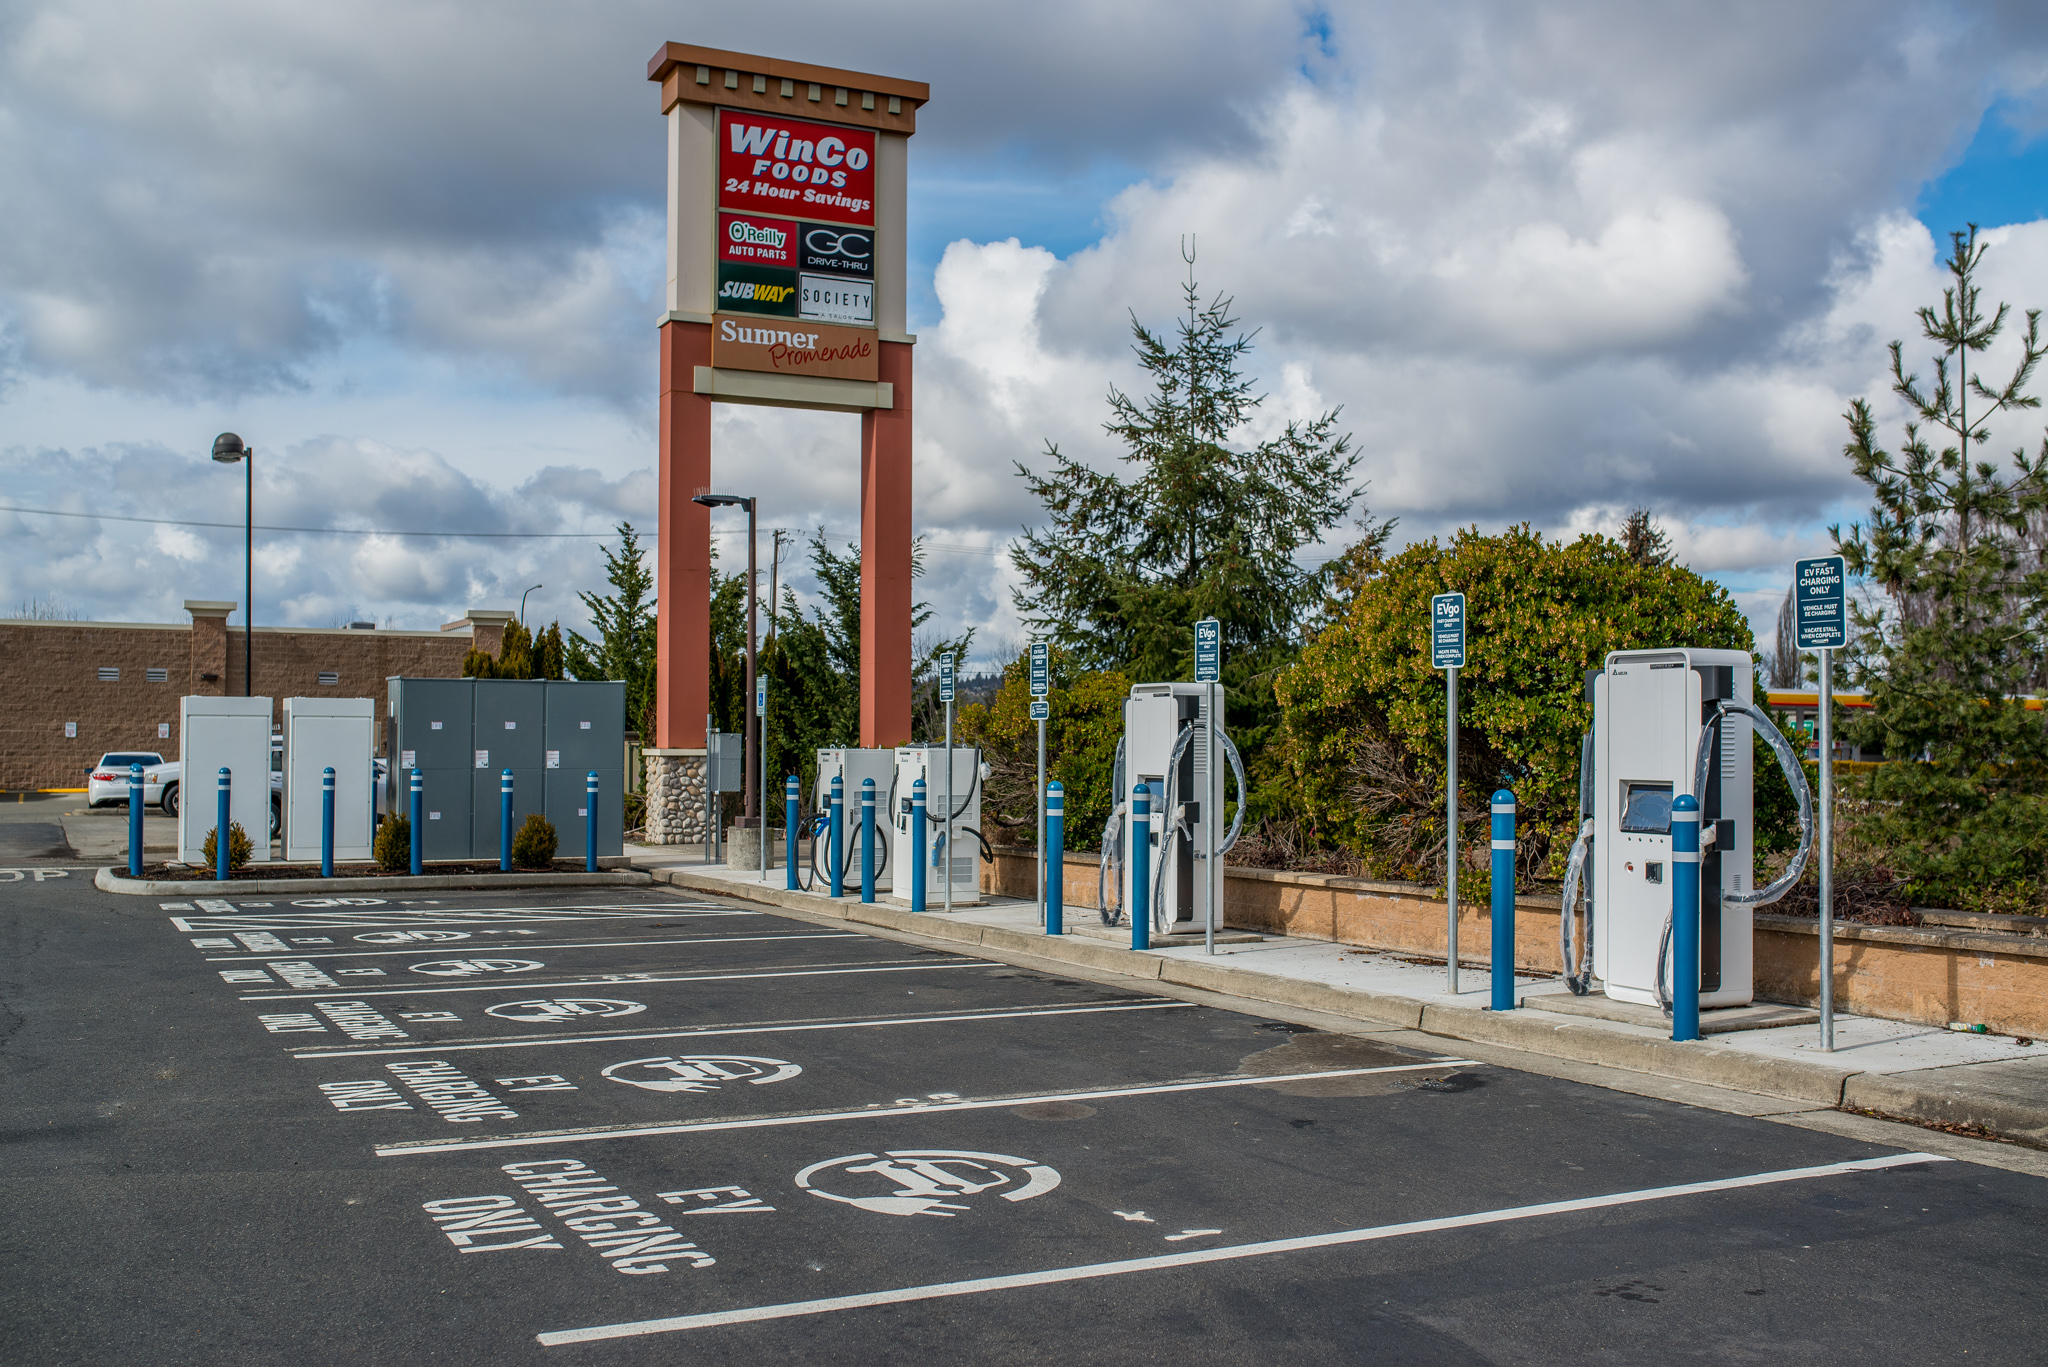
[[969,951],[985,947],[1006,955],[1040,959],[1049,965],[1071,963],[1116,974],[1133,982],[1174,984],[1251,1002],[1321,1010],[1372,1025],[1419,1029],[1444,1039],[1505,1045],[1577,1064],[1702,1082],[1759,1096],[1782,1096],[1815,1107],[1880,1111],[1909,1121],[1978,1125],[2019,1144],[2048,1148],[2048,1107],[2015,1096],[1999,1096],[1997,1092],[1962,1088],[1954,1082],[1933,1086],[1919,1080],[1907,1082],[1882,1074],[1835,1070],[1823,1064],[1757,1058],[1729,1049],[1714,1039],[1698,1043],[1645,1039],[1642,1035],[1559,1019],[1540,1010],[1495,1012],[1464,1006],[1430,1006],[1403,996],[1276,978],[1223,963],[1165,959],[1116,949],[1092,939],[1028,935],[971,920],[948,920],[944,914],[926,912],[918,916],[885,906],[862,906],[856,898],[834,902],[815,894],[793,894],[782,887],[762,887],[760,883],[729,883],[725,879],[692,875],[688,869],[655,869],[651,875],[659,883],[672,883],[690,892],[762,902],[813,916],[836,916],[852,924],[948,941]]

